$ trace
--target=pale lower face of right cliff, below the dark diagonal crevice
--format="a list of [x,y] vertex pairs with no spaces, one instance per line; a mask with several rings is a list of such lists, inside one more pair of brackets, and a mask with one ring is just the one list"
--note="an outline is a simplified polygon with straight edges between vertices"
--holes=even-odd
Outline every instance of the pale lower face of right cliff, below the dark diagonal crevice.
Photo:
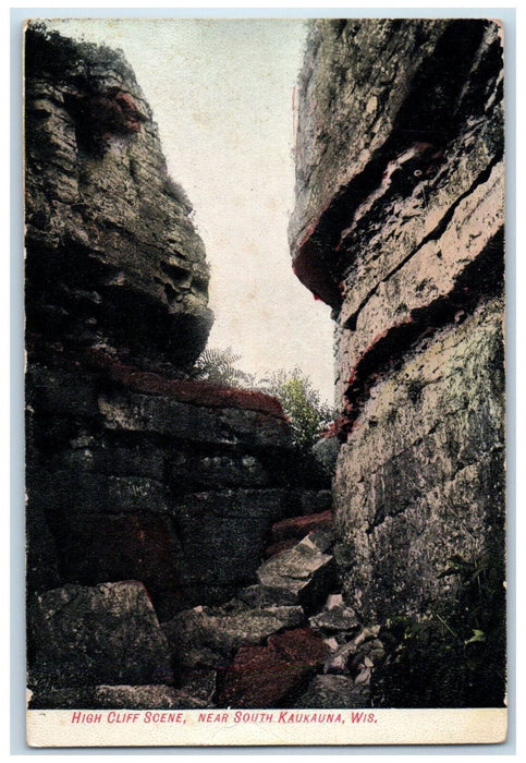
[[438,576],[456,554],[501,564],[501,318],[491,302],[417,349],[377,385],[342,446],[337,558],[362,611],[386,618],[400,602],[421,610],[449,584]]

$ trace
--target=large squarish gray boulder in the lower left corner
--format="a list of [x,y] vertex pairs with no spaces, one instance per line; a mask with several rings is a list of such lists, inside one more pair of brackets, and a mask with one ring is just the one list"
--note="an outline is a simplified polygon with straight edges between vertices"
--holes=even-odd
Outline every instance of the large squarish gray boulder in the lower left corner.
[[168,642],[138,582],[66,585],[37,596],[29,644],[37,683],[173,683]]

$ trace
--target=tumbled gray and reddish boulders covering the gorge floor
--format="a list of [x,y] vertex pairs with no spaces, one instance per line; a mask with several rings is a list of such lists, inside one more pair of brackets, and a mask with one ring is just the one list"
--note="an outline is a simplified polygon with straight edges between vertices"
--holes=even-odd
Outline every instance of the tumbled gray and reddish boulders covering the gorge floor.
[[342,598],[331,524],[276,523],[254,584],[161,622],[137,581],[37,596],[29,707],[368,706],[383,643]]

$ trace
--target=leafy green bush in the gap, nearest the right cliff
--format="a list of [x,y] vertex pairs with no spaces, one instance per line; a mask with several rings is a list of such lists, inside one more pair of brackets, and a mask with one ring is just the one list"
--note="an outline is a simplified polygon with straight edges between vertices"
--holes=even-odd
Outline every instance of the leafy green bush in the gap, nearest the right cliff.
[[320,429],[329,424],[332,411],[320,400],[308,376],[297,366],[290,372],[277,371],[266,382],[266,390],[274,395],[289,416],[294,443],[311,448]]

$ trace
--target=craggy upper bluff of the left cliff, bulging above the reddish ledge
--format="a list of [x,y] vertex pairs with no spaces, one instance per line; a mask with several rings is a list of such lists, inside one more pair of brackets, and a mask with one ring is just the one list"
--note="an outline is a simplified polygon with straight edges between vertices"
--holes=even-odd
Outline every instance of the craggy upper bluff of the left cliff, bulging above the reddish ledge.
[[120,53],[25,37],[27,324],[38,341],[192,363],[211,327],[192,207]]

